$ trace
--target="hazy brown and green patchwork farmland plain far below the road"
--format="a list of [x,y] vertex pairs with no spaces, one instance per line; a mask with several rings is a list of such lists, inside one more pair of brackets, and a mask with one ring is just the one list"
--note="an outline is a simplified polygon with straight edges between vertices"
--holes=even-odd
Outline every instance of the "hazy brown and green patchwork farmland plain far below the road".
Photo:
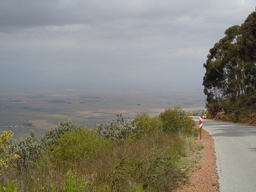
[[[94,124],[110,122],[116,118],[116,113],[123,113],[130,121],[137,113],[155,116],[164,108],[177,105],[184,110],[204,110],[202,87],[154,84],[1,85],[0,132],[11,129],[16,134],[14,137],[18,138],[32,128],[40,137],[46,128],[68,118],[93,128]],[[13,124],[24,123],[32,123],[34,127],[9,128]]]

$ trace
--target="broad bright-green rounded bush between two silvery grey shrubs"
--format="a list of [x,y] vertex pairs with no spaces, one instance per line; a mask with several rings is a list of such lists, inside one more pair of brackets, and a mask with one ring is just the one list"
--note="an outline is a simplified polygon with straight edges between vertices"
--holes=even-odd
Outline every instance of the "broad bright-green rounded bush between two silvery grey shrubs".
[[65,133],[57,140],[57,144],[52,146],[53,159],[61,164],[76,164],[80,159],[95,156],[97,149],[108,143],[108,140],[98,137],[96,132],[82,127],[78,131]]

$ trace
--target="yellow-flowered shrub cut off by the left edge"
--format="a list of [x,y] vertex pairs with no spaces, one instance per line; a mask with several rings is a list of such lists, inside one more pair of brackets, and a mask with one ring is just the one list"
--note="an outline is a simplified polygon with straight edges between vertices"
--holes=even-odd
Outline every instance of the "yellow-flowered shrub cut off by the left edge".
[[[11,138],[13,135],[12,131],[4,131],[0,135],[0,175],[2,171],[8,168],[13,168],[14,161],[19,159],[20,156],[15,153],[8,153],[8,149],[11,147]],[[1,190],[1,187],[0,187]]]

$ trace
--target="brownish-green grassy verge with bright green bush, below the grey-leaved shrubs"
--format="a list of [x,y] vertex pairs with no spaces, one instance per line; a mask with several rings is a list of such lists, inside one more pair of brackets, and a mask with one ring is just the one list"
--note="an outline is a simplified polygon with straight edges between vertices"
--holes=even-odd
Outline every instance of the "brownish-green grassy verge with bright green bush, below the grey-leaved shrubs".
[[[180,133],[158,132],[122,145],[111,140],[90,143],[81,140],[83,135],[89,137],[88,130],[66,133],[36,164],[21,173],[9,172],[6,181],[16,180],[21,191],[168,191],[188,182],[188,170],[196,163],[188,155],[202,148],[194,137]],[[91,153],[82,153],[88,148]]]

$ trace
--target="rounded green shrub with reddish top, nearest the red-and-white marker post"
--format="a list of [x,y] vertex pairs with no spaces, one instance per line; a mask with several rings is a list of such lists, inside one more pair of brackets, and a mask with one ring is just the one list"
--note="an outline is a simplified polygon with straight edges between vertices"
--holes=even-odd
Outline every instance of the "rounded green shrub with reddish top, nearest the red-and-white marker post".
[[159,117],[163,122],[164,131],[178,132],[185,126],[186,113],[179,106],[165,109]]

